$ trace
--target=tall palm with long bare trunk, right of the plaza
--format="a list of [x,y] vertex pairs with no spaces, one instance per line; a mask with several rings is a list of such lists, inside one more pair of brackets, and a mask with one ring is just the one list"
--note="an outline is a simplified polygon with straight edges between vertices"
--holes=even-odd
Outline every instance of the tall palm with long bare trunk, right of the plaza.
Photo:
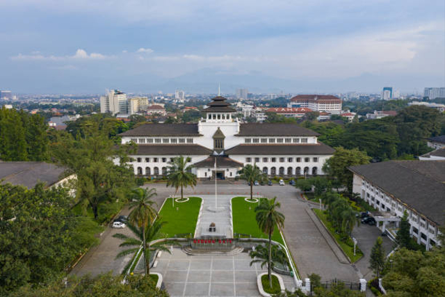
[[277,211],[280,208],[280,202],[275,202],[276,197],[273,199],[262,199],[257,207],[255,207],[255,218],[257,219],[257,224],[262,232],[268,234],[269,236],[269,257],[268,257],[268,276],[269,285],[272,287],[272,234],[275,230],[275,226],[279,229],[284,227],[284,214]]

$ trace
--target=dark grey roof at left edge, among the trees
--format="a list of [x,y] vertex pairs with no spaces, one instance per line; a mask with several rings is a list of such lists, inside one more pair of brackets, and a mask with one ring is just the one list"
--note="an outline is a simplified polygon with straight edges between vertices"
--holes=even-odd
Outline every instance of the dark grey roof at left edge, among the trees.
[[56,184],[63,179],[67,168],[44,162],[1,162],[0,179],[2,184],[10,183],[33,188],[39,182],[46,186]]

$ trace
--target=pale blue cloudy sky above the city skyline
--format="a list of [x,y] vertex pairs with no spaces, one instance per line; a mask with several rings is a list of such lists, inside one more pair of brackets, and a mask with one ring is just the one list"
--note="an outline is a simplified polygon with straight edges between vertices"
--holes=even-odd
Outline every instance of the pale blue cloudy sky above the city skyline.
[[17,93],[200,91],[179,78],[209,71],[285,92],[360,91],[344,83],[357,77],[445,85],[443,0],[0,0],[0,11],[0,90]]

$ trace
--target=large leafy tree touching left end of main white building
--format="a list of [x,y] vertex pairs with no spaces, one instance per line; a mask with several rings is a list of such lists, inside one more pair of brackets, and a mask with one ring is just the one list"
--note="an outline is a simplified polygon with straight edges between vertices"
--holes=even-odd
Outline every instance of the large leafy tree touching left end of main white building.
[[[54,160],[76,174],[77,198],[88,201],[95,219],[102,205],[124,200],[134,184],[133,169],[128,161],[127,145],[115,144],[108,138],[106,129],[99,129],[99,122],[85,122],[78,138],[61,138],[53,143]],[[83,135],[83,136],[81,136]],[[119,159],[115,165],[113,159]]]

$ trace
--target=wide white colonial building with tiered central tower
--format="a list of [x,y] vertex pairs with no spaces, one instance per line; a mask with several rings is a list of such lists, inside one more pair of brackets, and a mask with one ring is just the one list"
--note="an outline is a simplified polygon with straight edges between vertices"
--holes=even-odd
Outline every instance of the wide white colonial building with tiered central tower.
[[[269,176],[323,175],[334,149],[318,134],[292,124],[241,123],[224,97],[215,97],[197,124],[146,124],[126,131],[122,143],[136,143],[135,175],[165,175],[176,156],[191,158],[200,179],[234,178],[256,163]],[[216,163],[216,170],[215,168]]]

